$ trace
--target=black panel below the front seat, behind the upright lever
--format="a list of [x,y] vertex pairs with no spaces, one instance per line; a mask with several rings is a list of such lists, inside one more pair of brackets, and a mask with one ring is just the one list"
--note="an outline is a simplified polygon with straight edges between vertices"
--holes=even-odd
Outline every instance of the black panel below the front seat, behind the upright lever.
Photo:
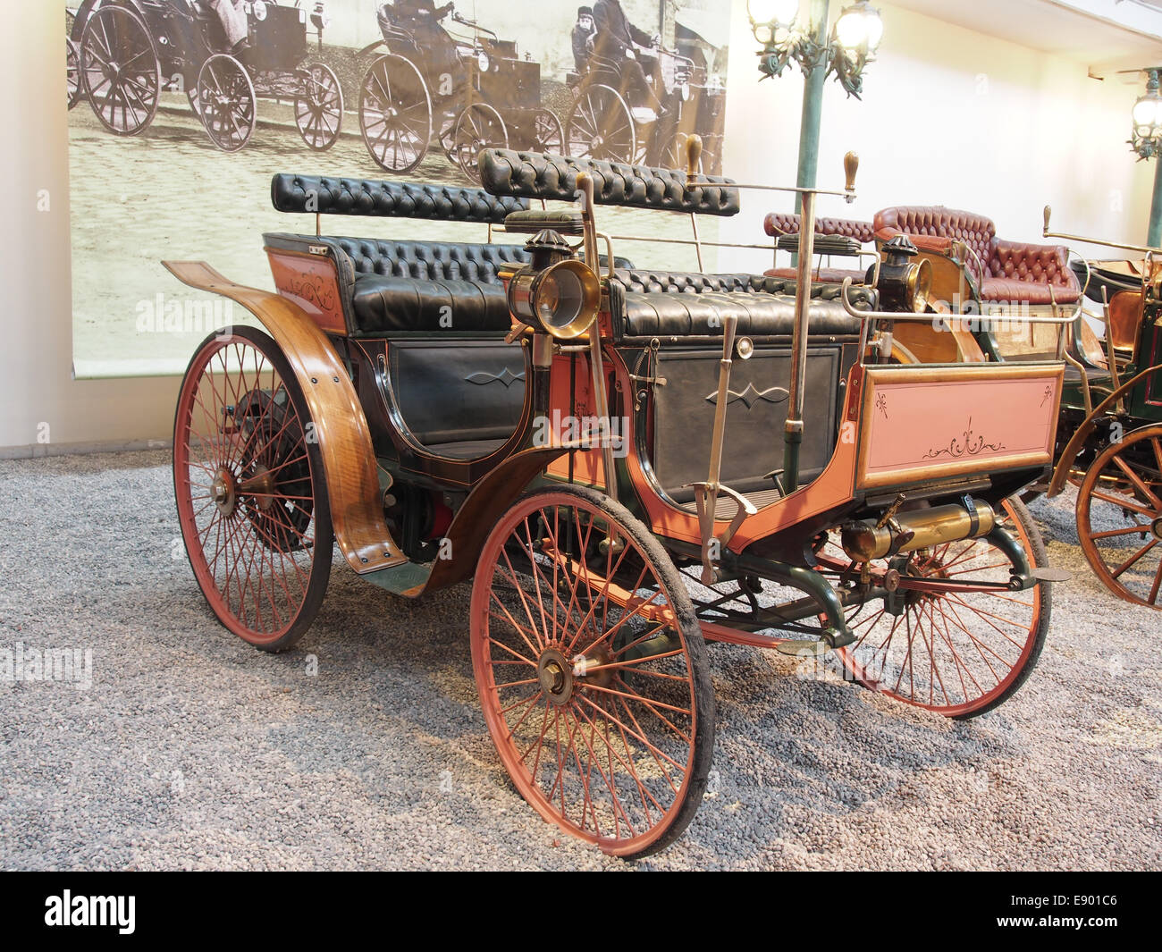
[[[835,442],[837,387],[841,349],[812,348],[806,358],[801,479],[813,479],[831,458]],[[679,501],[693,499],[680,487],[706,478],[718,399],[722,350],[662,350],[659,374],[666,386],[654,389],[653,468],[666,492]],[[756,351],[731,367],[722,481],[739,492],[772,489],[763,477],[783,465],[791,353]]]

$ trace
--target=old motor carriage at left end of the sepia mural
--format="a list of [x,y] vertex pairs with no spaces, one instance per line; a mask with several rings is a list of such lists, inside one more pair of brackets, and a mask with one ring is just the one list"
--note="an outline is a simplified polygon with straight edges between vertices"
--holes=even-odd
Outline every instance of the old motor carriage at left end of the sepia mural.
[[286,100],[302,141],[330,149],[343,90],[330,66],[306,62],[308,36],[322,44],[323,3],[308,12],[300,2],[253,0],[245,10],[250,45],[231,53],[201,0],[84,0],[69,37],[70,108],[84,98],[110,133],[136,136],[157,115],[163,91],[184,91],[214,144],[236,152],[254,133],[258,99]]

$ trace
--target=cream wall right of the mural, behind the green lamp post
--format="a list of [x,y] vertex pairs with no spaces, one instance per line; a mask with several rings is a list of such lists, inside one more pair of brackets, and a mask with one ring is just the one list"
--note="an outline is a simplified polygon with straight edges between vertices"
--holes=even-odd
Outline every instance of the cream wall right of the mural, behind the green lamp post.
[[[831,6],[834,17],[841,5]],[[829,79],[819,141],[818,184],[841,186],[844,152],[854,149],[859,196],[851,206],[820,199],[819,215],[870,220],[891,205],[946,205],[989,215],[1005,238],[1035,242],[1049,203],[1061,230],[1145,241],[1154,163],[1138,163],[1125,144],[1135,87],[1089,79],[1079,63],[876,6],[884,35],[863,99],[847,99]],[[754,60],[739,56],[754,49],[745,0],[736,0],[725,167],[740,181],[792,185],[802,74],[756,83]],[[792,203],[791,195],[747,193],[743,214],[724,228],[727,239],[753,241],[765,212]],[[755,253],[733,263],[765,260]]]

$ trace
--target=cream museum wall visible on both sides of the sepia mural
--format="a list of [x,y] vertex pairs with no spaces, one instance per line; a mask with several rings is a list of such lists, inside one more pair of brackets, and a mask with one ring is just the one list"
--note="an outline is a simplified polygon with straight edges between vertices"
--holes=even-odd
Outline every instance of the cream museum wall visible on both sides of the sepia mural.
[[[558,0],[560,1],[560,0]],[[834,6],[834,5],[833,5]],[[870,217],[894,203],[944,203],[991,215],[998,231],[1035,241],[1052,202],[1066,230],[1141,241],[1153,163],[1124,142],[1135,91],[1086,79],[1085,67],[881,3],[884,41],[862,102],[829,81],[820,181],[839,184],[847,149],[863,165],[859,201],[825,200],[820,214]],[[0,255],[0,454],[166,439],[177,378],[74,381],[71,375],[67,133],[60,12],[22,5],[2,31],[0,90],[7,200]],[[726,166],[747,180],[795,177],[802,81],[756,83],[744,0],[731,41]],[[40,189],[50,209],[37,210]],[[725,223],[753,241],[763,213],[789,196],[747,196]],[[228,228],[223,216],[218,227]],[[745,256],[744,256],[745,257]],[[749,266],[763,265],[755,255]],[[720,266],[744,266],[723,260]],[[48,424],[51,443],[37,442]]]

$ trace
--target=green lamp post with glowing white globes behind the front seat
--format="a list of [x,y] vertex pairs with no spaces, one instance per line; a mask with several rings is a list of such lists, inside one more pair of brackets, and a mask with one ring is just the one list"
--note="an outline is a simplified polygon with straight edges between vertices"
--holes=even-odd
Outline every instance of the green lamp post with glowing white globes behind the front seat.
[[[747,14],[754,38],[762,44],[759,71],[766,77],[782,76],[791,63],[803,71],[803,114],[799,122],[799,156],[796,185],[815,187],[819,162],[819,117],[823,113],[823,84],[834,73],[848,95],[860,98],[863,67],[871,62],[883,21],[868,0],[845,7],[827,35],[829,0],[809,0],[806,24],[798,22],[799,0],[747,0]],[[799,210],[801,199],[795,200]]]

